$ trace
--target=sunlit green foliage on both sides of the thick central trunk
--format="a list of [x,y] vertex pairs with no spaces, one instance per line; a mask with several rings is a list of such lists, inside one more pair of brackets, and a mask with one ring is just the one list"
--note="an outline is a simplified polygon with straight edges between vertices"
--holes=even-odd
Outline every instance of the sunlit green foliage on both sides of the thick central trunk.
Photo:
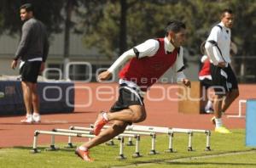
[[[239,53],[253,55],[256,38],[256,1],[224,0],[159,0],[134,3],[127,1],[127,45],[128,48],[147,40],[164,36],[164,27],[169,20],[182,20],[187,25],[187,43],[191,55],[200,53],[201,42],[205,41],[213,25],[219,22],[222,9],[232,8],[236,14],[233,29],[234,41]],[[99,48],[100,52],[113,58],[119,53],[119,1],[108,1],[102,6],[102,18],[84,31],[84,44]],[[84,25],[86,27],[86,25]],[[86,29],[86,28],[84,28]],[[248,40],[249,39],[249,40]]]

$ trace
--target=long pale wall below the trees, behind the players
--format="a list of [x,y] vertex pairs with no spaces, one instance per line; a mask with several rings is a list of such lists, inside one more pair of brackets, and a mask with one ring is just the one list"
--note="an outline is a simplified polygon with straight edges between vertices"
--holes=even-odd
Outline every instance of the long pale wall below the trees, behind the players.
[[[82,36],[70,36],[70,61],[88,61],[91,64],[112,64],[113,61],[108,60],[106,57],[98,54],[96,49],[84,48]],[[57,34],[50,39],[49,59],[47,63],[62,64],[64,59],[63,53],[63,35]],[[14,58],[16,48],[19,44],[19,36],[0,36],[0,76],[15,76],[19,74],[19,70],[11,70],[10,63]],[[197,58],[187,57],[189,67],[184,70],[184,73],[191,81],[198,79],[198,61]],[[170,82],[176,82],[176,73],[173,70],[168,70],[163,76],[168,78]]]

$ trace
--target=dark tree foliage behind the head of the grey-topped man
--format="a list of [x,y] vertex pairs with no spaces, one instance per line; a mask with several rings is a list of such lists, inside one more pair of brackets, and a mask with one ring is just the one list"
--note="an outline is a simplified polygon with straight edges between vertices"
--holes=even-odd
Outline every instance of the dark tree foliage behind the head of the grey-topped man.
[[2,0],[0,1],[0,34],[3,32],[14,35],[20,32],[20,6],[24,3],[32,3],[34,7],[34,15],[38,20],[47,25],[49,33],[61,32],[61,8],[64,0]]

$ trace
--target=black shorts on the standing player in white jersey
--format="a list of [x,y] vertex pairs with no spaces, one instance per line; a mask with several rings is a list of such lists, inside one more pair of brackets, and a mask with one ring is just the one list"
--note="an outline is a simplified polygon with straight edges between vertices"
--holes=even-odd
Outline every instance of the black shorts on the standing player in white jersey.
[[212,87],[215,94],[225,94],[232,89],[238,89],[238,84],[234,71],[231,69],[230,64],[228,67],[221,68],[211,64]]

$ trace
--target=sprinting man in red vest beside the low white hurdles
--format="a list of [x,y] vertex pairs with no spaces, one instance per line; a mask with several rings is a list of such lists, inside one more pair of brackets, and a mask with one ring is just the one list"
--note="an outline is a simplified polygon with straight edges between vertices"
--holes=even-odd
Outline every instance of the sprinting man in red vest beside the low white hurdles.
[[[119,99],[113,104],[110,112],[102,112],[97,116],[93,133],[96,137],[76,149],[75,153],[85,161],[92,161],[89,149],[105,143],[125,131],[131,123],[146,119],[143,96],[166,70],[176,65],[177,81],[190,87],[190,81],[184,76],[183,48],[186,39],[185,25],[177,20],[166,26],[166,37],[149,39],[142,44],[123,53],[112,66],[99,76],[100,81],[108,80],[126,61],[119,71]],[[109,121],[113,125],[101,132]]]

